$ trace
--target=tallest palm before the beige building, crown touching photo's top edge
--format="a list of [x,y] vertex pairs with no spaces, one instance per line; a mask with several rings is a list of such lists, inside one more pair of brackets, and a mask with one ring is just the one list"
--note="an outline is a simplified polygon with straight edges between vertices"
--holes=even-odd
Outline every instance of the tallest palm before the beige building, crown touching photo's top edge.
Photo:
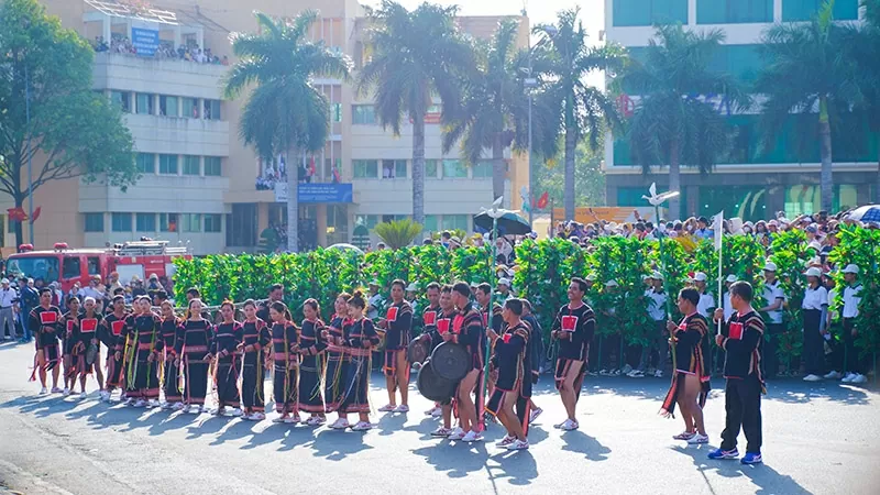
[[413,122],[413,219],[425,221],[425,114],[442,101],[441,119],[459,111],[464,75],[474,66],[471,45],[454,22],[455,7],[422,3],[413,12],[391,0],[372,14],[372,59],[361,70],[358,92],[373,90],[383,128],[400,135]]

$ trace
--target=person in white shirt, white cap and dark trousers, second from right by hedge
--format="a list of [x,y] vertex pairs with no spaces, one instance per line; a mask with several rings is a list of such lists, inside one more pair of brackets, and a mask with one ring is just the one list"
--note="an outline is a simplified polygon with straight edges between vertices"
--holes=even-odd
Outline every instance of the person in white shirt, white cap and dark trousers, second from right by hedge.
[[825,340],[828,333],[825,328],[825,311],[828,310],[828,292],[820,283],[822,271],[812,267],[806,275],[807,287],[801,305],[804,318],[803,360],[806,376],[804,382],[818,382],[825,374]]

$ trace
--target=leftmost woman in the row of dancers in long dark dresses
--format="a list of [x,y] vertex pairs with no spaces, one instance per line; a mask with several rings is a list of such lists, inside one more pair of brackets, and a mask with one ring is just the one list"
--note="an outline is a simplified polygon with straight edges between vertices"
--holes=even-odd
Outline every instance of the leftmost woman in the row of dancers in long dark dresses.
[[122,341],[131,342],[131,352],[127,359],[125,396],[134,407],[158,405],[158,370],[161,356],[165,348],[162,338],[162,321],[152,311],[150,296],[138,296],[134,300],[134,314],[125,319],[117,354],[122,358]]

